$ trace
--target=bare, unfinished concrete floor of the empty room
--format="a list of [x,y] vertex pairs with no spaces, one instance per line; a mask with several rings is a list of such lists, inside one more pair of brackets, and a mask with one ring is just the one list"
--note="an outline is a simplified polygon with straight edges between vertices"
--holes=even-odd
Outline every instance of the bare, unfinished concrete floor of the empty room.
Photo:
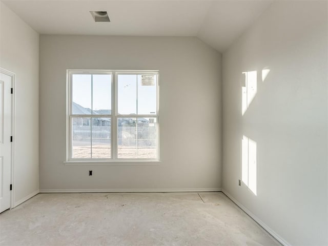
[[0,245],[280,245],[221,192],[38,194]]

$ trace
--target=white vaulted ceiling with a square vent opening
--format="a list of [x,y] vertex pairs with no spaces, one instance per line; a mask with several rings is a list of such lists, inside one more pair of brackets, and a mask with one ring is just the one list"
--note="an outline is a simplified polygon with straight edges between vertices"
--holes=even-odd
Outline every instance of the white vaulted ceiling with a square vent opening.
[[[219,52],[273,1],[267,0],[3,0],[40,34],[196,36]],[[95,23],[89,11],[107,11]]]

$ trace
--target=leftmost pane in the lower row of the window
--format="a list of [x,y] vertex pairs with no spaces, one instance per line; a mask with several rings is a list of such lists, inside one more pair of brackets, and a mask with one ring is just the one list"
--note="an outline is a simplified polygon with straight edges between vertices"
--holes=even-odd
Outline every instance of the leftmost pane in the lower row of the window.
[[91,158],[90,118],[72,118],[72,158]]

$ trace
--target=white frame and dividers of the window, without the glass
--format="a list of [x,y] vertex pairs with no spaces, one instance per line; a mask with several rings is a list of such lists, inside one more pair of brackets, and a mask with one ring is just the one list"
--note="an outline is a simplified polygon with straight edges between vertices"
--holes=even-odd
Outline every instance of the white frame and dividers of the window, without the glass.
[[[73,74],[110,74],[112,75],[112,90],[111,90],[111,115],[101,115],[102,117],[111,118],[111,158],[108,159],[92,159],[92,158],[72,158],[72,118],[73,117],[97,117],[95,115],[74,115],[72,114],[72,77]],[[118,115],[117,111],[117,81],[119,74],[133,74],[133,75],[157,75],[156,76],[156,114],[136,114],[136,115]],[[67,98],[66,98],[66,161],[65,165],[89,165],[90,163],[97,163],[98,165],[115,165],[115,163],[122,165],[122,163],[131,164],[156,164],[159,161],[159,70],[95,70],[95,69],[68,69],[67,70]],[[149,117],[156,118],[157,124],[157,134],[156,134],[156,144],[157,144],[157,157],[152,159],[146,158],[117,158],[117,129],[118,129],[118,118],[138,118],[138,117]],[[91,140],[92,141],[92,140]]]

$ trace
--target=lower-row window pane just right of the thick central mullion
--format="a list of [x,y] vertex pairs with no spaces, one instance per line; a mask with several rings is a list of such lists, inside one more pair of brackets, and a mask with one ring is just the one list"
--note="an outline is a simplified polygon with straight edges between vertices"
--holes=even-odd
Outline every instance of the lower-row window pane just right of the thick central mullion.
[[118,118],[117,158],[137,158],[136,121],[136,118]]

